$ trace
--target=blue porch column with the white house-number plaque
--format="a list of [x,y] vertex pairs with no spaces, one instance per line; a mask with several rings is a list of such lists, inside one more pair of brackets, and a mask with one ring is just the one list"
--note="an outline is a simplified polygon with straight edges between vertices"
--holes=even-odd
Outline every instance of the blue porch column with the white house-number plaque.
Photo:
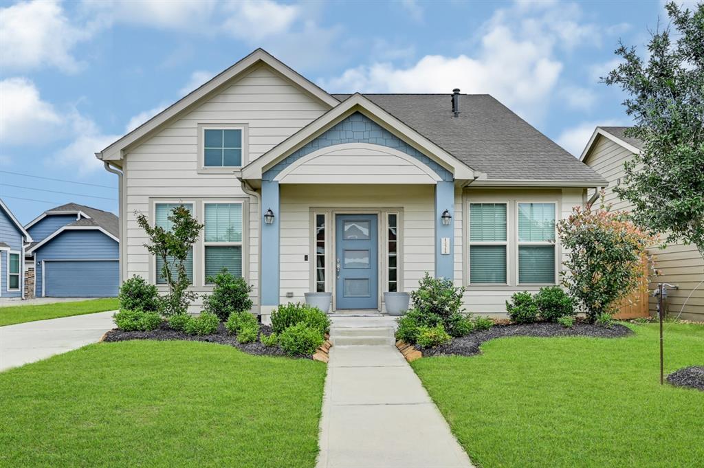
[[[445,210],[452,216],[450,224],[443,224]],[[443,241],[445,248],[443,249]],[[439,181],[435,185],[435,277],[455,277],[455,184]]]

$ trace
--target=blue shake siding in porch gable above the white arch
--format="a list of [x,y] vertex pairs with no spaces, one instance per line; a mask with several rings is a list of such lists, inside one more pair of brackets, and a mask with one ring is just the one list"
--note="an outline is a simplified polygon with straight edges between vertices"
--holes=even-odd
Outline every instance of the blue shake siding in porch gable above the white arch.
[[294,153],[291,153],[291,156],[279,161],[274,167],[266,171],[262,178],[263,180],[274,180],[279,172],[286,169],[296,160],[303,158],[303,156],[320,148],[345,143],[370,143],[386,146],[387,148],[395,148],[408,154],[408,156],[413,156],[413,158],[420,160],[421,163],[434,170],[444,181],[451,182],[453,180],[451,172],[407,144],[406,141],[396,137],[389,130],[381,127],[377,122],[358,112],[337,123],[320,137],[309,141],[306,146],[298,148]]

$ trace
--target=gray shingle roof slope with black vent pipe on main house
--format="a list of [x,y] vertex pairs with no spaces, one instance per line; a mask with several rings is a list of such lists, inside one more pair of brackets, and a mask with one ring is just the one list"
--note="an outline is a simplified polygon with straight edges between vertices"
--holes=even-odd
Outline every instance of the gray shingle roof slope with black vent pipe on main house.
[[450,94],[364,96],[489,179],[605,182],[489,94],[460,94],[456,118]]

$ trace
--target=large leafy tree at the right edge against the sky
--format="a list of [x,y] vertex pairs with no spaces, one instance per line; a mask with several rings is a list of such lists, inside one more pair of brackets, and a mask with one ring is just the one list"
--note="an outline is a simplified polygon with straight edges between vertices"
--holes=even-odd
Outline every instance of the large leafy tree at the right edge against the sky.
[[651,34],[647,58],[620,44],[622,63],[603,79],[628,94],[627,135],[643,142],[615,191],[636,224],[704,255],[704,3],[665,8],[670,27]]

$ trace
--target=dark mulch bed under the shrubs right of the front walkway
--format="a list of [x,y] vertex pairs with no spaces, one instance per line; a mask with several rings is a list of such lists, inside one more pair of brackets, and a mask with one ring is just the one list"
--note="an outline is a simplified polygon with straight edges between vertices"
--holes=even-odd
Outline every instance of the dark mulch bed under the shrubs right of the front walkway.
[[[489,330],[474,331],[461,338],[454,338],[446,345],[436,348],[422,348],[423,356],[460,355],[473,356],[481,353],[479,346],[486,341],[505,336],[591,336],[593,338],[620,338],[628,336],[633,331],[621,324],[614,324],[611,328],[577,322],[572,328],[562,327],[551,322],[538,322],[533,324],[496,324]],[[420,348],[419,348],[420,349]]]

